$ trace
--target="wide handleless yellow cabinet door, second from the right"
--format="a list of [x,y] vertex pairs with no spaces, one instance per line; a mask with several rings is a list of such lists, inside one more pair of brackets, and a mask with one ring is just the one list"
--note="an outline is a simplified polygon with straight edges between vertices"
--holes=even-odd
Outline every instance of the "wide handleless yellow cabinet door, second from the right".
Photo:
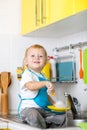
[[74,0],[51,0],[51,22],[62,20],[74,13]]

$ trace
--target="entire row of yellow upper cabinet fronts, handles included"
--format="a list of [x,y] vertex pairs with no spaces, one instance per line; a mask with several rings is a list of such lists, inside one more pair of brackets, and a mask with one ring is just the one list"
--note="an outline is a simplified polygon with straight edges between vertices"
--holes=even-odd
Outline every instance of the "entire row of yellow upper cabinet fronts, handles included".
[[22,34],[87,9],[87,0],[22,0]]

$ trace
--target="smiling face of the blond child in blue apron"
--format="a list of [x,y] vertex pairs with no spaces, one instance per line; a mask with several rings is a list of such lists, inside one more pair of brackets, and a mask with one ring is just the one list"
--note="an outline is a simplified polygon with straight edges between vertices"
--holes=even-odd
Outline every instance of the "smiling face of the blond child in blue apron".
[[29,69],[36,72],[41,72],[42,68],[46,64],[47,56],[44,50],[37,48],[30,48],[27,52],[26,65]]

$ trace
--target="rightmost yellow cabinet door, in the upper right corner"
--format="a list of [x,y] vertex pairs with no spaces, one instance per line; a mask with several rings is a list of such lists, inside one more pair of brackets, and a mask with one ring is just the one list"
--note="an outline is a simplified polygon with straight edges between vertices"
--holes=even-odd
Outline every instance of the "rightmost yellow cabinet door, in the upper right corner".
[[76,13],[87,10],[87,0],[74,0],[74,2]]

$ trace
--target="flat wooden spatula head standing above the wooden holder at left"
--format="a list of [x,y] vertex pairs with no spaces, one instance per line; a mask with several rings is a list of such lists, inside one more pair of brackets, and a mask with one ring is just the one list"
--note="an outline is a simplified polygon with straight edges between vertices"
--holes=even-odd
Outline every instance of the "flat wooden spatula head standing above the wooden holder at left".
[[10,82],[11,82],[10,72],[1,72],[1,85],[3,93],[7,93],[7,89],[10,85]]

